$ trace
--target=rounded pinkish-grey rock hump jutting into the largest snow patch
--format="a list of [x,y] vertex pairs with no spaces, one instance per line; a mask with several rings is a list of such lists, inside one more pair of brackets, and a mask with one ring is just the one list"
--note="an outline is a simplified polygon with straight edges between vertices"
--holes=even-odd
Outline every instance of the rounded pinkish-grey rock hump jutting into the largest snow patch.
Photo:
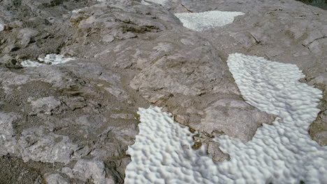
[[265,114],[241,100],[221,99],[204,109],[201,123],[191,123],[195,130],[224,132],[226,135],[248,141],[262,122],[268,122]]

